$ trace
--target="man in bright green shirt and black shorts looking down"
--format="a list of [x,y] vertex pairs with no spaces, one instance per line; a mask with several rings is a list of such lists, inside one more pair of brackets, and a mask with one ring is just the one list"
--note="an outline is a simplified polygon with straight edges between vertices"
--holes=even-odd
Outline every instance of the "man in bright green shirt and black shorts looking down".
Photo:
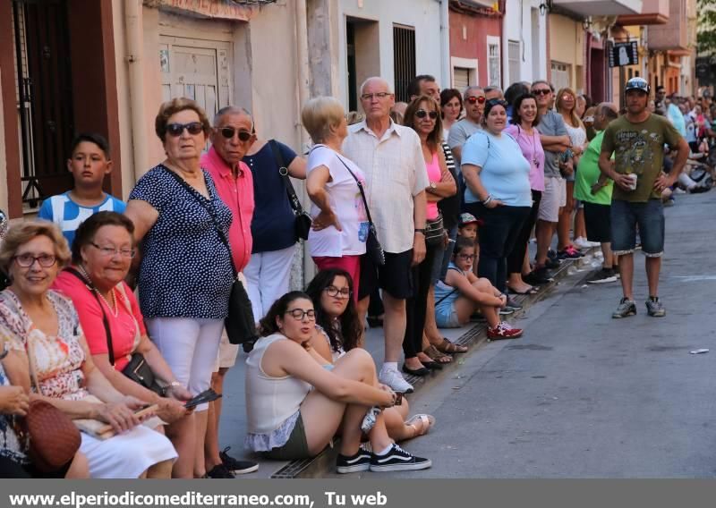
[[612,283],[618,279],[618,271],[614,267],[614,255],[611,252],[611,191],[614,182],[599,169],[601,142],[604,130],[612,120],[618,117],[618,107],[610,102],[602,102],[594,112],[594,130],[596,136],[584,150],[579,159],[575,176],[575,199],[584,203],[584,223],[587,229],[587,240],[598,241],[604,261],[601,270],[587,279],[589,284]]

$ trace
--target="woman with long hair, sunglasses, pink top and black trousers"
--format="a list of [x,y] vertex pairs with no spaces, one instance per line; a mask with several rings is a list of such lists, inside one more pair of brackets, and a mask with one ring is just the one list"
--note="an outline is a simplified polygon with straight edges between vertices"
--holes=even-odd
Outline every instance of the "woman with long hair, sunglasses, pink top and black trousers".
[[[434,282],[430,280],[436,259],[442,262],[442,253],[447,245],[447,233],[442,227],[442,217],[438,210],[438,201],[456,193],[455,180],[447,170],[445,154],[442,151],[442,120],[440,106],[431,97],[415,97],[405,109],[405,126],[412,127],[421,140],[422,157],[428,170],[430,185],[425,189],[428,207],[425,231],[425,258],[420,265],[413,267],[413,296],[405,301],[407,326],[403,351],[405,365],[403,371],[413,376],[425,376],[430,368],[442,368],[422,352],[423,329],[430,300],[430,290],[434,291]],[[434,297],[433,297],[434,299]],[[430,315],[434,314],[430,304]],[[427,339],[425,339],[427,347]]]

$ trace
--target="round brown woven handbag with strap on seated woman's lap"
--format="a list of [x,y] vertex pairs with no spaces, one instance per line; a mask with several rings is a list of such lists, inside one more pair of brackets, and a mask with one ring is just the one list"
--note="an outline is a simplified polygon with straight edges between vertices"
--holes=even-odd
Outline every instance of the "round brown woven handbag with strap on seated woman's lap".
[[[35,358],[32,353],[32,339],[26,342],[30,367],[30,385],[38,394],[42,394],[35,370]],[[16,428],[18,437],[24,438],[28,447],[28,457],[32,464],[42,472],[55,472],[69,466],[75,453],[80,449],[80,430],[72,419],[49,402],[35,400],[30,402],[28,414]]]

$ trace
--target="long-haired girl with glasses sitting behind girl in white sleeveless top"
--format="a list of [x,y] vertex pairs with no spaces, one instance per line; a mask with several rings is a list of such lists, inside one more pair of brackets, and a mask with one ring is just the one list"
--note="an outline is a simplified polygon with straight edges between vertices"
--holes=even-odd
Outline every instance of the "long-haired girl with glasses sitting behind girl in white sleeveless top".
[[[334,362],[346,351],[361,346],[362,326],[351,298],[353,280],[340,268],[321,270],[308,284],[306,294],[316,309],[316,333],[311,338],[311,347],[320,354],[323,368],[333,370]],[[428,414],[407,419],[409,411],[405,398],[401,404],[383,410],[388,436],[396,441],[427,434],[435,425],[435,418]]]

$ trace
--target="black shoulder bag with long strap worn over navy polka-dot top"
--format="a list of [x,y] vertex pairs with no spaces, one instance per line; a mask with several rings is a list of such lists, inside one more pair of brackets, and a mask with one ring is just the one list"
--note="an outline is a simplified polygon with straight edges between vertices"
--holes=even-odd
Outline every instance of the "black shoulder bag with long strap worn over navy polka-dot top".
[[[226,336],[229,339],[229,343],[234,345],[242,344],[243,351],[249,352],[253,349],[253,344],[258,340],[259,333],[256,331],[256,321],[253,316],[251,300],[249,300],[249,294],[246,292],[246,289],[243,287],[243,284],[239,279],[236,265],[234,265],[234,256],[231,252],[231,246],[226,238],[226,234],[224,234],[224,231],[221,227],[219,227],[217,219],[214,214],[211,213],[211,210],[205,207],[200,201],[199,196],[195,193],[196,190],[193,190],[192,187],[190,187],[187,182],[184,182],[182,177],[175,174],[175,172],[170,170],[169,173],[175,177],[177,182],[183,185],[189,194],[192,195],[200,206],[203,207],[209,214],[219,240],[224,244],[224,247],[226,247],[226,250],[229,253],[229,261],[231,262],[231,269],[234,275],[234,284],[231,286],[231,295],[229,296],[229,313],[226,316],[226,319],[224,319],[224,327],[226,328]],[[310,219],[311,217],[309,217],[309,220]],[[306,237],[308,237],[308,234],[306,234]]]

